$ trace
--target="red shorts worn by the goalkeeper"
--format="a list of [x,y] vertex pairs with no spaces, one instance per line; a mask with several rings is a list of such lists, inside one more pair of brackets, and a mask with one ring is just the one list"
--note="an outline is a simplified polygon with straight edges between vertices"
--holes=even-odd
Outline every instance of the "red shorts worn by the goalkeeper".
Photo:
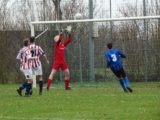
[[65,62],[61,62],[61,63],[55,62],[52,66],[52,69],[55,69],[55,70],[58,70],[59,68],[61,68],[61,70],[64,71],[68,68],[68,65]]

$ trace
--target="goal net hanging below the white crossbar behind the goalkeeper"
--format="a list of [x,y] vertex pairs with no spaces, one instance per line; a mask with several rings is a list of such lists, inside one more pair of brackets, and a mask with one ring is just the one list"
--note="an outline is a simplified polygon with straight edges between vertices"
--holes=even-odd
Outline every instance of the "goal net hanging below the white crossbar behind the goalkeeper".
[[[67,26],[73,28],[72,41],[66,47],[72,83],[88,82],[91,85],[91,82],[117,79],[106,69],[105,52],[109,42],[113,43],[113,48],[127,54],[123,65],[131,81],[160,81],[160,16],[31,22],[31,35],[39,35],[36,43],[51,63],[47,66],[42,62],[45,81],[52,69],[53,38]],[[63,39],[66,36],[64,33]],[[60,70],[54,81],[63,80]]]

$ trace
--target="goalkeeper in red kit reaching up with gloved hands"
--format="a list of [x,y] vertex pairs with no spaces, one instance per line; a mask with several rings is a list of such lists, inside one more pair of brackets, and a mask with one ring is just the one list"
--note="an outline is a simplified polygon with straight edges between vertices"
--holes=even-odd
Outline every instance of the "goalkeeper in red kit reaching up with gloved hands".
[[66,40],[62,40],[62,33],[60,35],[56,35],[54,37],[54,63],[52,66],[52,71],[49,75],[48,81],[47,81],[47,90],[49,90],[51,83],[52,83],[52,79],[55,76],[56,72],[58,71],[59,68],[61,68],[61,70],[64,73],[65,76],[65,89],[66,90],[70,90],[70,86],[69,86],[69,82],[70,82],[70,73],[69,73],[69,69],[68,69],[68,65],[66,63],[66,59],[65,59],[65,47],[70,43],[71,41],[71,27],[68,26],[67,27],[67,33],[68,36],[66,38]]

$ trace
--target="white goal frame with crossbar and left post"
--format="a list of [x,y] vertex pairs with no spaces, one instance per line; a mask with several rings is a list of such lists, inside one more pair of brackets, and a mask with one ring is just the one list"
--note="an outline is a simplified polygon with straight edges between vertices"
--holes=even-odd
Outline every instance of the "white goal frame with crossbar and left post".
[[[160,19],[157,16],[137,16],[137,17],[120,17],[120,18],[102,18],[102,19],[81,19],[81,20],[60,20],[60,21],[32,21],[30,23],[31,36],[35,36],[34,25],[38,24],[66,24],[66,23],[84,23],[84,22],[113,22],[113,21],[127,21],[127,20],[147,20],[147,19]],[[36,87],[36,77],[33,79],[33,87]]]

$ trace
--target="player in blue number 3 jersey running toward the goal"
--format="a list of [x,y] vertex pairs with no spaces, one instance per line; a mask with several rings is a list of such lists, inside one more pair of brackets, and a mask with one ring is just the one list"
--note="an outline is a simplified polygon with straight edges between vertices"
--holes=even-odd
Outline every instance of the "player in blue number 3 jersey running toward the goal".
[[124,92],[132,92],[132,89],[129,86],[129,80],[120,61],[121,58],[126,58],[126,55],[120,50],[112,49],[112,43],[108,43],[107,47],[109,49],[105,53],[107,67],[110,68],[112,72],[117,76]]

